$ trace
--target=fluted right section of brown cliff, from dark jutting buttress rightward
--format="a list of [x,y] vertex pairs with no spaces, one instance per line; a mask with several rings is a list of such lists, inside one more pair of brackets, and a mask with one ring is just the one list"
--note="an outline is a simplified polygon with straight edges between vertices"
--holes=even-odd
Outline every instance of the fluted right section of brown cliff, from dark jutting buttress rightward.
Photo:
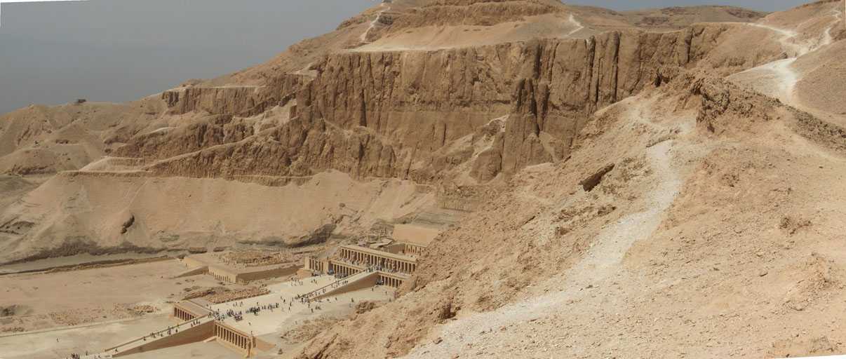
[[530,76],[514,90],[503,171],[566,158],[590,113],[652,84],[658,68],[687,64],[690,35],[609,32],[587,41],[527,44]]

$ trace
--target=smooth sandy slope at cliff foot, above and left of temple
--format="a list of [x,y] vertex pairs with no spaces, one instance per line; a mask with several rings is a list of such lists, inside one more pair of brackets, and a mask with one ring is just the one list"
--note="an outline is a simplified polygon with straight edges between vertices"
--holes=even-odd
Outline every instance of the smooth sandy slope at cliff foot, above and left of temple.
[[[358,182],[337,171],[282,187],[213,178],[58,175],[20,203],[0,209],[0,222],[31,224],[27,235],[10,234],[8,241],[0,241],[0,261],[58,247],[69,236],[66,231],[100,247],[297,242],[327,224],[355,231],[376,220],[402,217],[431,204],[433,197],[418,192],[414,182]],[[53,222],[66,216],[74,219],[72,224]],[[130,217],[133,225],[121,233]],[[43,237],[30,237],[36,233]]]

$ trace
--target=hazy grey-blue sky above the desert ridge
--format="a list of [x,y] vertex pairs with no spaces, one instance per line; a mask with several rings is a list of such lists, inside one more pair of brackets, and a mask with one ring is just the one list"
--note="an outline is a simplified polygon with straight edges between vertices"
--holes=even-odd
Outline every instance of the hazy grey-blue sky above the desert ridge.
[[[8,0],[0,0],[5,2]],[[766,11],[799,0],[570,0],[625,10],[731,3]],[[132,101],[266,62],[327,33],[373,0],[89,0],[4,3],[0,113],[33,103]]]

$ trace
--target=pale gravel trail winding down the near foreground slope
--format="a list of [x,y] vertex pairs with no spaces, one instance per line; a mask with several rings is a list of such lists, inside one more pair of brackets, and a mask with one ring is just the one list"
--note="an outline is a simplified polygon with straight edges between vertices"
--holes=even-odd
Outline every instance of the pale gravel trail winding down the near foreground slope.
[[[628,124],[634,128],[622,128],[621,131],[632,131],[635,128],[649,128],[652,133],[663,133],[668,128],[651,122],[653,116],[643,105],[642,101],[629,98],[613,106],[625,106],[629,109]],[[626,121],[621,120],[621,121]],[[694,128],[695,118],[677,119],[675,125],[680,125],[683,132]],[[690,122],[690,123],[686,123]],[[501,333],[497,328],[529,323],[536,318],[544,318],[550,313],[561,313],[567,310],[569,302],[585,296],[583,289],[588,286],[608,286],[615,280],[616,275],[623,271],[622,261],[625,253],[634,242],[648,239],[652,232],[661,224],[665,212],[673,204],[683,184],[682,178],[671,165],[671,153],[676,140],[666,140],[645,150],[645,160],[651,168],[654,181],[645,193],[641,202],[640,212],[624,215],[614,223],[605,226],[600,231],[594,244],[585,257],[567,270],[560,283],[561,291],[536,296],[524,302],[501,307],[493,312],[473,313],[459,318],[448,324],[443,324],[439,330],[440,342],[421,344],[409,353],[409,358],[450,357],[462,351],[475,352],[484,348],[497,346],[507,348],[508,340],[519,340],[522,335],[518,331],[509,329]],[[575,199],[577,200],[577,199]],[[480,332],[481,329],[481,332]],[[485,335],[486,331],[492,335]],[[469,347],[468,344],[473,344]],[[508,350],[506,350],[508,351]]]

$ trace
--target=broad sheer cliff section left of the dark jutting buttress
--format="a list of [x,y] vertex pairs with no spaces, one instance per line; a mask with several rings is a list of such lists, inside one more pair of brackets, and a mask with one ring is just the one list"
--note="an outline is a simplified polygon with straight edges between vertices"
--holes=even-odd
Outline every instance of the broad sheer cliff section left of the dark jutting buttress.
[[316,65],[303,116],[437,150],[508,111],[515,44],[437,52],[352,52]]

